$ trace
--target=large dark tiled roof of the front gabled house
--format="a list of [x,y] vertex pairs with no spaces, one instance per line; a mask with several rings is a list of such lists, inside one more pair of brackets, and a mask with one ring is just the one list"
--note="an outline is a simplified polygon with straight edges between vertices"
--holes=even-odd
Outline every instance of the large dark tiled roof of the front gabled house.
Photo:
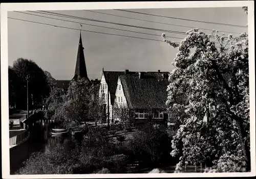
[[[163,75],[165,74],[165,75]],[[168,72],[135,72],[120,75],[127,105],[131,109],[166,109]]]

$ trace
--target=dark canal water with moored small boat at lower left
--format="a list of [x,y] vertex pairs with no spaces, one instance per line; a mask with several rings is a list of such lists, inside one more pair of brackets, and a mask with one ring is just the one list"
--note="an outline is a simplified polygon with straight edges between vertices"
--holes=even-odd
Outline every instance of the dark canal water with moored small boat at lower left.
[[30,132],[30,139],[27,142],[29,152],[22,162],[10,168],[10,174],[15,174],[19,168],[23,167],[23,162],[29,159],[33,152],[45,152],[51,150],[51,148],[57,144],[62,144],[65,148],[71,149],[76,143],[82,140],[70,134],[65,136],[52,136],[52,129],[58,128],[59,125],[56,122],[46,120],[42,112],[32,115],[25,123],[29,125]]

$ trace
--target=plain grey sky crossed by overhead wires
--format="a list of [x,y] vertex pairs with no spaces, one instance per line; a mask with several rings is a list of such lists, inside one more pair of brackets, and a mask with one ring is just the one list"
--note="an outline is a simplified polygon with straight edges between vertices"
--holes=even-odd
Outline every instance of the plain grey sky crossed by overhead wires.
[[[160,31],[153,31],[110,23],[57,17],[52,15],[38,14],[35,12],[26,12],[52,18],[66,19],[80,23],[82,22],[140,33],[150,33],[154,35],[118,31],[86,24],[82,24],[82,30],[159,40],[153,41],[82,31],[82,43],[84,47],[84,56],[86,59],[89,79],[100,79],[102,68],[104,68],[106,71],[123,71],[125,69],[129,69],[130,71],[172,71],[172,62],[176,57],[177,50],[164,43],[162,41],[163,39],[161,34],[165,33],[166,36],[178,38],[184,38],[186,35],[168,33],[164,30],[187,32],[193,28],[202,28],[209,30],[215,29],[219,30],[220,32],[231,32],[225,33],[226,36],[233,33],[247,32],[247,28],[232,27],[221,24],[210,24],[181,19],[164,18],[118,10],[93,11],[161,23],[170,23],[173,25],[123,18],[84,10],[51,11],[83,18],[160,29]],[[129,11],[150,13],[161,16],[171,16],[183,19],[195,19],[208,22],[247,25],[247,15],[243,11],[242,7],[130,9]],[[79,23],[49,19],[19,12],[8,12],[8,17],[77,29],[63,29],[50,25],[20,21],[10,18],[8,19],[8,64],[10,66],[12,66],[13,62],[18,58],[30,59],[36,62],[36,64],[43,70],[49,71],[53,78],[56,80],[71,80],[73,78],[80,35]],[[185,25],[193,28],[179,27],[176,25]],[[209,34],[211,33],[209,30],[202,31]],[[238,34],[233,35],[237,36]],[[168,39],[176,42],[181,41],[181,39],[175,38]]]

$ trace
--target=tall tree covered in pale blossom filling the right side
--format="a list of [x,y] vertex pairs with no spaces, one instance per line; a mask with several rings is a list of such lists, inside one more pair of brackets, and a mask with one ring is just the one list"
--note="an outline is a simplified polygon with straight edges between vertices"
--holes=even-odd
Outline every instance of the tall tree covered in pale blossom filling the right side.
[[[241,157],[250,168],[248,35],[207,35],[187,32],[177,48],[175,69],[169,75],[166,105],[180,127],[172,141],[172,155],[183,144],[184,162],[218,165],[226,154]],[[219,47],[212,39],[218,41]],[[186,96],[184,103],[177,99]]]

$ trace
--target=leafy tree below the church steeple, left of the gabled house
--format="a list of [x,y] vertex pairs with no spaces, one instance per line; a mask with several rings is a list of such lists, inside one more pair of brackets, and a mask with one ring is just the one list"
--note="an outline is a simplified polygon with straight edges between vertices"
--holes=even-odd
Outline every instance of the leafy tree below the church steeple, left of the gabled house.
[[55,87],[47,99],[46,116],[66,125],[72,121],[80,122],[101,120],[103,105],[98,96],[99,86],[80,78],[71,81],[67,93]]

